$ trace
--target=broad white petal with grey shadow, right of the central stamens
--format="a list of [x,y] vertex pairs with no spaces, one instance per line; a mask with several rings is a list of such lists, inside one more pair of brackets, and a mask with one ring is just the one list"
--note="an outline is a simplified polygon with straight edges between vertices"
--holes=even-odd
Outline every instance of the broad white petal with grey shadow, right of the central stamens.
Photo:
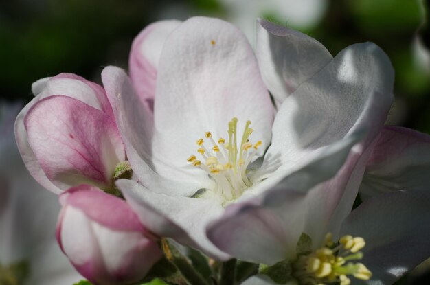
[[282,104],[267,155],[297,167],[314,150],[354,130],[367,131],[366,146],[385,122],[392,102],[394,71],[372,43],[343,49]]

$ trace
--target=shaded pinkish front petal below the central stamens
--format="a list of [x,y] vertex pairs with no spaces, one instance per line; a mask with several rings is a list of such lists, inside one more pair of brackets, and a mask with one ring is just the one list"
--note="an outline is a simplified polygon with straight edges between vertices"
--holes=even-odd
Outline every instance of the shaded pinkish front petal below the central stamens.
[[240,260],[272,265],[294,259],[306,203],[297,192],[284,196],[275,209],[253,205],[253,201],[227,207],[223,218],[208,227],[207,236]]

